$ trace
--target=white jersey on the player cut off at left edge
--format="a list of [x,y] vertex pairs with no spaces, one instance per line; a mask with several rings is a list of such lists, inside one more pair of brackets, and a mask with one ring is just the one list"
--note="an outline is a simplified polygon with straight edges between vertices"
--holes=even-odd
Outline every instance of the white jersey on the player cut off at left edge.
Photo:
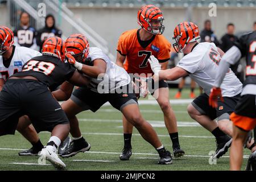
[[[0,56],[0,78],[7,80],[11,75],[22,70],[23,65],[32,57],[42,56],[38,51],[27,47],[13,47],[14,54],[10,57],[10,65],[3,64],[3,56]],[[8,60],[5,60],[8,61]]]

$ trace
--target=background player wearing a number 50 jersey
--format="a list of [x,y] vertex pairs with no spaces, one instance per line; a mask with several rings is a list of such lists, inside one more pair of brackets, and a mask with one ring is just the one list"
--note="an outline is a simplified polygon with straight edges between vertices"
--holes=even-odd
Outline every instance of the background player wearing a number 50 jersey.
[[38,46],[36,45],[36,30],[30,26],[30,15],[22,12],[19,20],[20,26],[14,30],[15,45],[38,50]]

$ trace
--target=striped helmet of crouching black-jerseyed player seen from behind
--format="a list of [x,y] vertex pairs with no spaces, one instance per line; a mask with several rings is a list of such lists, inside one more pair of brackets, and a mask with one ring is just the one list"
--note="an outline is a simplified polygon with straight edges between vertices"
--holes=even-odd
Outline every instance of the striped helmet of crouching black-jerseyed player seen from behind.
[[66,46],[63,39],[54,36],[46,39],[42,48],[42,55],[55,56],[64,62]]

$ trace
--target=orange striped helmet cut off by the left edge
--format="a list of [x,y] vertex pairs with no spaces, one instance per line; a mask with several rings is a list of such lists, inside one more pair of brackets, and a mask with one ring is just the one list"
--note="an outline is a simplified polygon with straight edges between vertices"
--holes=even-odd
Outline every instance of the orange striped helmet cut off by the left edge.
[[3,55],[14,44],[13,31],[5,26],[0,26],[0,55]]

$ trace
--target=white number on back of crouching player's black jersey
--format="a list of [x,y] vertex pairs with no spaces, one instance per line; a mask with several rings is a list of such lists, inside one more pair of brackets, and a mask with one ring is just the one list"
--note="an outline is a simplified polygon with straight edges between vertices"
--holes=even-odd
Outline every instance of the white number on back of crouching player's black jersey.
[[55,65],[49,62],[44,61],[35,61],[31,60],[26,65],[24,65],[22,71],[35,71],[35,72],[42,72],[45,75],[50,75],[55,68]]

